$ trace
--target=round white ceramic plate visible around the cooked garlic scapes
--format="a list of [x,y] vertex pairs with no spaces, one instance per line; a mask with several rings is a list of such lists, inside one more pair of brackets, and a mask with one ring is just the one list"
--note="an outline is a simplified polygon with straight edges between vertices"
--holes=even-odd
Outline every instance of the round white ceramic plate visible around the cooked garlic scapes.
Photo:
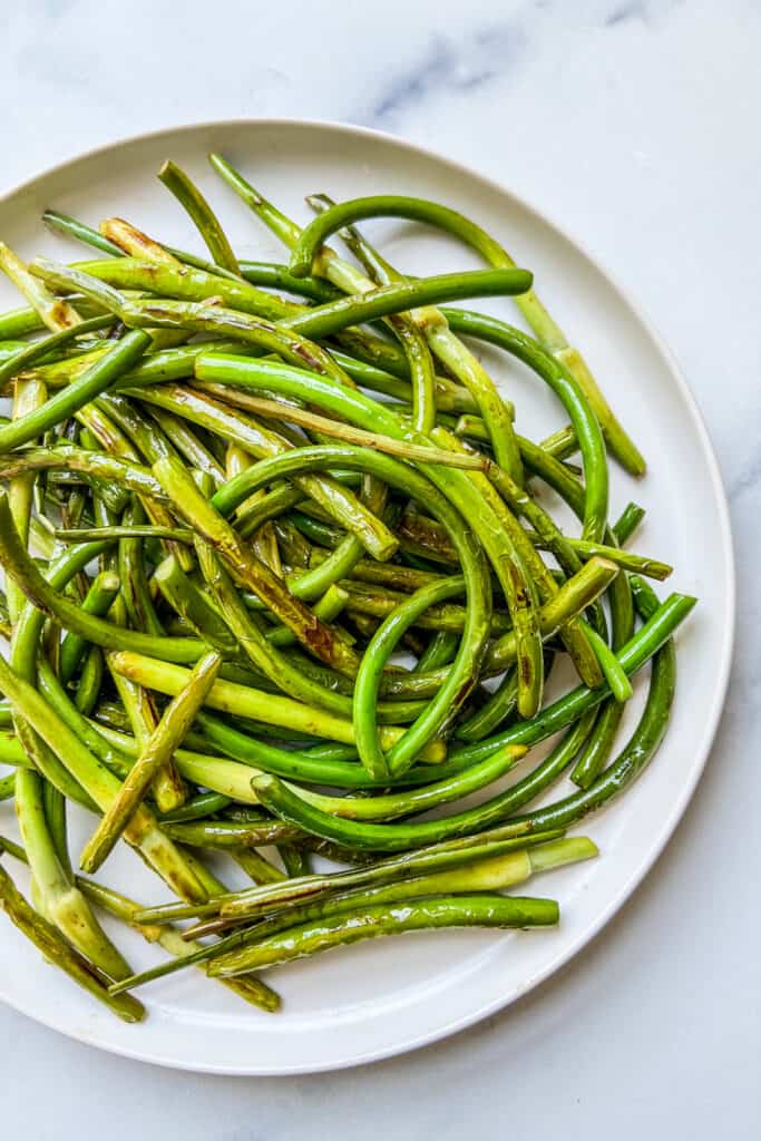
[[[22,254],[88,257],[46,233],[46,207],[97,222],[121,215],[171,244],[197,249],[192,225],[156,180],[175,159],[208,192],[236,250],[282,260],[267,232],[209,170],[219,149],[274,202],[309,217],[306,193],[337,199],[396,192],[451,203],[502,238],[531,267],[550,311],[582,347],[650,471],[638,486],[614,471],[612,516],[630,499],[649,509],[637,548],[677,567],[669,586],[699,596],[679,634],[679,694],[653,766],[624,799],[591,817],[602,858],[553,873],[531,891],[560,900],[559,928],[518,934],[463,931],[386,940],[273,972],[285,1006],[277,1017],[249,1009],[196,972],[152,985],[149,1017],[124,1026],[50,970],[3,921],[0,997],[90,1045],[144,1061],[225,1074],[294,1074],[353,1066],[423,1045],[508,1005],[576,954],[615,914],[672,834],[705,763],[724,698],[734,628],[731,540],[724,494],[699,413],[673,361],[618,286],[547,219],[494,183],[399,139],[321,123],[211,123],[128,139],[27,183],[0,203],[0,236]],[[473,266],[454,241],[403,222],[371,232],[410,272]],[[199,249],[199,252],[201,250]],[[2,284],[0,306],[14,302]],[[485,306],[486,307],[486,306]],[[516,319],[510,302],[488,308]],[[531,436],[562,422],[561,410],[523,370],[492,357],[508,381],[518,422]],[[639,681],[641,693],[645,678]],[[630,715],[631,721],[631,715]],[[532,753],[532,758],[536,754]],[[556,794],[553,794],[556,795]],[[0,806],[0,828],[13,827]],[[84,835],[86,822],[75,822]],[[75,834],[74,840],[79,836]],[[140,899],[162,898],[124,851],[104,880]],[[124,936],[121,936],[124,942]],[[137,966],[156,953],[128,937]]]

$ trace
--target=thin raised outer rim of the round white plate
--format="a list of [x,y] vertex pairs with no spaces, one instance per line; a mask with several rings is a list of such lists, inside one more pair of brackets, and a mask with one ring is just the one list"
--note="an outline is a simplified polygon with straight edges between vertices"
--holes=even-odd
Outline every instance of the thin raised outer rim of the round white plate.
[[87,160],[103,157],[110,152],[123,149],[140,143],[156,140],[162,136],[191,135],[196,131],[228,130],[230,128],[241,130],[277,130],[278,128],[290,129],[294,127],[307,130],[333,131],[348,137],[364,139],[365,141],[373,139],[381,140],[399,147],[403,151],[407,151],[412,155],[422,155],[423,157],[435,162],[444,163],[453,173],[467,179],[475,178],[491,192],[510,200],[516,207],[532,216],[537,222],[542,224],[542,226],[548,227],[553,234],[556,234],[564,242],[567,242],[575,251],[582,254],[588,264],[601,276],[607,288],[612,290],[613,293],[616,294],[616,297],[631,311],[642,331],[647,334],[654,348],[667,367],[671,379],[679,390],[685,407],[690,415],[691,427],[696,431],[702,453],[707,464],[707,475],[710,477],[710,484],[718,508],[719,532],[721,535],[721,561],[724,567],[727,592],[724,596],[723,615],[721,616],[722,645],[719,667],[717,670],[717,683],[713,688],[710,713],[704,720],[701,742],[696,748],[696,758],[699,759],[694,762],[689,779],[681,786],[679,796],[677,796],[671,804],[671,810],[662,819],[657,836],[649,844],[647,852],[639,860],[637,867],[631,872],[629,877],[610,898],[607,906],[602,908],[602,911],[596,916],[594,921],[584,929],[583,933],[578,936],[575,942],[556,955],[548,964],[545,964],[543,970],[532,976],[531,984],[519,993],[508,993],[504,997],[497,996],[493,1002],[486,1003],[475,1011],[464,1015],[456,1015],[451,1021],[437,1026],[435,1030],[424,1030],[420,1034],[411,1034],[402,1041],[397,1041],[390,1045],[370,1047],[359,1053],[354,1053],[351,1057],[329,1060],[324,1065],[311,1062],[293,1066],[278,1065],[276,1067],[267,1067],[262,1065],[241,1066],[240,1063],[235,1063],[230,1066],[227,1063],[214,1062],[187,1062],[178,1058],[171,1059],[163,1055],[160,1057],[155,1052],[146,1051],[145,1049],[140,1050],[137,1046],[131,1047],[129,1044],[103,1042],[97,1037],[97,1035],[92,1036],[91,1034],[88,1034],[87,1030],[78,1029],[75,1026],[62,1027],[51,1018],[46,1017],[44,1012],[40,1014],[37,1011],[31,1011],[23,1003],[15,1002],[13,995],[8,995],[5,992],[0,993],[0,1001],[11,1010],[16,1010],[25,1017],[32,1019],[34,1022],[38,1022],[48,1029],[55,1030],[67,1038],[80,1042],[92,1049],[102,1050],[106,1053],[121,1058],[128,1058],[133,1061],[140,1061],[146,1065],[161,1066],[163,1068],[176,1069],[185,1073],[211,1074],[227,1077],[288,1077],[306,1074],[330,1073],[333,1070],[366,1066],[383,1059],[395,1058],[400,1054],[408,1053],[412,1050],[422,1049],[423,1046],[431,1045],[436,1042],[443,1041],[444,1038],[451,1037],[454,1034],[459,1034],[460,1031],[465,1030],[484,1019],[507,1009],[518,998],[523,998],[529,992],[534,992],[539,987],[542,987],[562,966],[578,956],[582,950],[588,947],[590,942],[592,942],[592,940],[598,938],[600,932],[607,926],[614,915],[616,915],[616,913],[620,912],[633,896],[640,884],[645,881],[646,876],[649,875],[677,832],[677,828],[687,810],[687,806],[693,799],[695,790],[703,776],[715,741],[721,715],[726,705],[736,638],[736,559],[729,501],[715,448],[711,440],[706,422],[703,418],[698,400],[681,372],[675,355],[661,335],[657,326],[650,319],[649,315],[643,310],[640,302],[635,300],[631,292],[621,284],[617,276],[608,269],[607,265],[601,261],[597,254],[590,252],[585,242],[580,241],[574,233],[556,221],[554,218],[549,217],[543,210],[540,210],[532,203],[527,202],[520,194],[512,191],[510,186],[501,179],[494,178],[491,175],[485,175],[480,170],[470,167],[468,163],[460,162],[451,155],[442,153],[434,147],[415,143],[399,135],[395,135],[391,131],[378,130],[377,128],[340,122],[331,119],[242,115],[226,119],[180,122],[175,124],[169,123],[168,126],[154,128],[148,131],[118,136],[108,143],[102,143],[97,146],[89,147],[72,157],[64,159],[50,167],[46,167],[29,178],[25,178],[23,181],[16,184],[0,195],[0,210],[2,210],[3,207],[9,204],[17,196],[32,191],[35,184],[43,179],[63,175],[67,170],[75,168],[78,164]]

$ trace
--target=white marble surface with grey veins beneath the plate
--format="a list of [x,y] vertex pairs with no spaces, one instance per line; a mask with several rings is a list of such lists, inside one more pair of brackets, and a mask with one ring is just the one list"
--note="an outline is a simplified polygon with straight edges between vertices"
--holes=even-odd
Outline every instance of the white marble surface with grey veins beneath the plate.
[[731,499],[740,615],[727,712],[678,834],[549,985],[416,1054],[273,1081],[151,1070],[2,1009],[3,1135],[758,1138],[759,3],[27,0],[0,26],[0,191],[146,129],[325,118],[438,148],[581,236],[698,397]]

